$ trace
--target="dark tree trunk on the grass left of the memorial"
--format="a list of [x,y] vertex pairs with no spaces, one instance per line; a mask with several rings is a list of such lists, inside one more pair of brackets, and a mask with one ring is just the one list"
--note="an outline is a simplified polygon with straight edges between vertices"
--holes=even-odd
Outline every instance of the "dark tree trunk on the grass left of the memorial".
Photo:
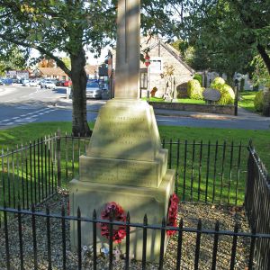
[[91,136],[92,131],[89,129],[86,116],[85,50],[81,49],[77,55],[71,55],[70,59],[70,76],[73,87],[72,132],[75,136]]

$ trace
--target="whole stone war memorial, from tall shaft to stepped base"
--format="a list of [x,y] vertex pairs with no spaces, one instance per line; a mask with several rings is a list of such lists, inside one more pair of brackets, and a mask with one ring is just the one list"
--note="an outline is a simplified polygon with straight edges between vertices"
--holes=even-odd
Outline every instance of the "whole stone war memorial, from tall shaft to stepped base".
[[[161,224],[174,193],[175,171],[167,169],[167,150],[161,148],[152,106],[139,95],[139,0],[119,0],[115,98],[101,108],[85,155],[79,158],[79,176],[70,182],[70,212],[97,218],[106,203],[116,202],[131,222]],[[77,247],[76,222],[71,224],[71,246]],[[147,239],[147,260],[157,261],[160,231]],[[92,226],[82,224],[82,245],[93,243]],[[97,247],[108,239],[98,230]],[[121,240],[125,252],[125,239]],[[97,251],[98,251],[97,250]],[[130,256],[142,258],[142,229],[130,231]]]

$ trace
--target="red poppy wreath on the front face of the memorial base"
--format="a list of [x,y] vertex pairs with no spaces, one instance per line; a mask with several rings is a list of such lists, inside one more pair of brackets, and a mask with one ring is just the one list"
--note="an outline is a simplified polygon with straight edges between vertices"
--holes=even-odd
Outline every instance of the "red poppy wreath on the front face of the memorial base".
[[[101,212],[101,218],[103,220],[112,220],[125,222],[127,216],[119,204],[116,202],[108,202],[105,204],[103,211]],[[107,239],[110,239],[110,224],[101,223],[101,235]],[[112,241],[114,243],[121,243],[121,240],[126,237],[126,228],[124,225],[114,225],[112,229]]]

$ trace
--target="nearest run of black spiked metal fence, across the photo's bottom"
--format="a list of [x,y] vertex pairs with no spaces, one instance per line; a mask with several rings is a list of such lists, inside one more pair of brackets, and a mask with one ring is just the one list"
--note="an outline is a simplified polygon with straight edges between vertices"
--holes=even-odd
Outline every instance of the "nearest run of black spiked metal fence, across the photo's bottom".
[[[63,207],[61,213],[50,213],[46,211],[36,211],[34,206],[31,211],[14,208],[0,207],[0,211],[4,211],[4,228],[2,233],[4,241],[1,241],[0,249],[2,258],[0,259],[0,267],[4,269],[113,269],[117,266],[115,261],[112,231],[113,226],[122,225],[126,231],[125,248],[130,250],[130,230],[140,228],[144,230],[142,239],[142,261],[139,263],[141,269],[147,269],[146,250],[147,238],[151,235],[152,230],[161,231],[160,252],[158,262],[152,264],[154,269],[268,269],[265,267],[257,267],[257,260],[254,258],[255,247],[258,241],[270,240],[270,234],[260,234],[256,232],[239,231],[238,224],[234,230],[220,229],[219,221],[216,222],[214,229],[203,229],[202,221],[198,220],[197,228],[184,227],[184,221],[181,219],[178,227],[166,226],[165,219],[162,225],[148,225],[147,217],[141,224],[130,223],[130,217],[127,216],[126,222],[99,220],[93,213],[93,218],[85,218],[80,216],[78,209],[77,216],[67,216]],[[9,221],[8,214],[13,213],[16,219]],[[26,223],[29,223],[29,230],[25,229]],[[68,235],[69,222],[76,221],[77,243],[78,247],[74,252],[70,251],[70,239]],[[93,246],[90,248],[81,245],[81,229],[82,223],[87,222],[89,226],[93,226]],[[96,230],[100,223],[107,223],[110,227],[109,248],[106,255],[100,258],[100,251],[97,249]],[[175,230],[175,257],[165,257],[165,241],[166,230]],[[188,238],[193,234],[194,243],[188,243],[191,248],[187,257],[191,257],[186,266],[186,255],[184,254],[184,238]],[[55,240],[57,238],[57,241]],[[210,244],[205,247],[206,239]],[[221,242],[225,241],[228,250],[220,250]],[[239,247],[239,243],[242,243]],[[244,251],[243,248],[246,248]],[[85,252],[87,249],[91,252],[87,256],[85,262]],[[246,257],[243,258],[243,253]],[[186,253],[186,251],[185,251]],[[206,257],[207,254],[207,257]],[[57,256],[57,257],[56,257]],[[127,252],[122,259],[121,269],[130,269],[134,262],[130,261],[130,253]],[[242,261],[239,259],[242,257]],[[16,258],[19,258],[16,259]],[[225,258],[225,260],[224,260]],[[103,261],[103,262],[102,262]],[[19,264],[18,264],[19,263]],[[102,265],[103,264],[103,265]],[[101,266],[102,265],[102,266]],[[135,265],[138,267],[138,265]],[[185,267],[184,267],[185,266]],[[85,267],[85,268],[84,268]],[[42,268],[42,269],[43,269]],[[245,269],[246,269],[245,268]],[[1,268],[2,269],[2,268]],[[87,268],[88,269],[88,268]],[[138,268],[136,268],[138,269]]]

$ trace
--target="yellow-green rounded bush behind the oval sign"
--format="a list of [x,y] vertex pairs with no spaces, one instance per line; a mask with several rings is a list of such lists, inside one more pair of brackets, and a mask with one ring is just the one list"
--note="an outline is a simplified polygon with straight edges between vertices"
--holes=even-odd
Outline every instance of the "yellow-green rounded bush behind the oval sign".
[[229,85],[225,84],[225,81],[220,76],[216,77],[211,82],[211,87],[218,90],[221,94],[220,100],[217,102],[220,105],[233,104],[235,99],[235,94]]

